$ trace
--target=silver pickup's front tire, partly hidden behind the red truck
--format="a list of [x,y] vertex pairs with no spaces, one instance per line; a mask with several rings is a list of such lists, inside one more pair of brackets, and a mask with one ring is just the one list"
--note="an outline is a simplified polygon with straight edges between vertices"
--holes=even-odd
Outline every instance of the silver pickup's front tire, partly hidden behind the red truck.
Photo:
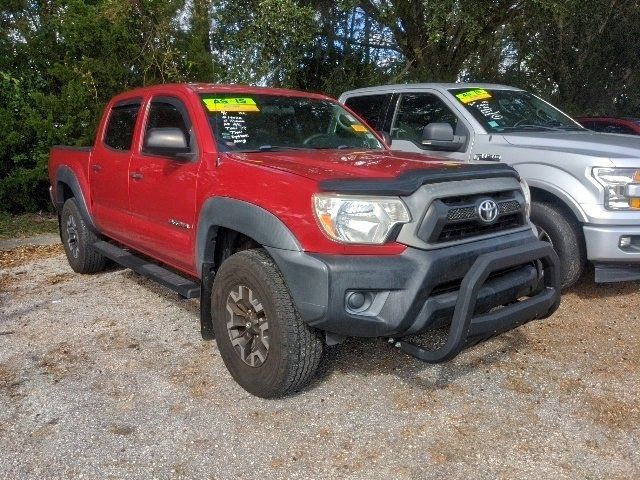
[[541,240],[548,240],[560,258],[562,288],[575,284],[586,264],[586,251],[580,225],[562,208],[546,202],[531,204],[531,221]]

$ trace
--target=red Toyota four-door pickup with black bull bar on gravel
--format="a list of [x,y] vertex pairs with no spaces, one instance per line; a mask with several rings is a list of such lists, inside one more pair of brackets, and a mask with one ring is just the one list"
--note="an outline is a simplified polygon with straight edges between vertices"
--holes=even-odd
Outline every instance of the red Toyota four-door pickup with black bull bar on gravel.
[[[111,259],[200,297],[202,336],[258,396],[300,389],[347,336],[440,362],[559,304],[512,168],[391,152],[322,95],[129,91],[49,176],[71,267]],[[435,328],[437,348],[404,338]]]

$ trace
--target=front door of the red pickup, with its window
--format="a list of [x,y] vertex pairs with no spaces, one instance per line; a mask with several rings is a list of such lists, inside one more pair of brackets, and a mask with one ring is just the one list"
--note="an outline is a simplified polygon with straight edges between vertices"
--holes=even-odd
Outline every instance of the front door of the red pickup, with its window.
[[[152,129],[178,128],[190,147],[180,157],[151,153]],[[184,103],[175,97],[150,101],[143,141],[129,165],[132,241],[136,248],[182,270],[193,270],[198,147]]]

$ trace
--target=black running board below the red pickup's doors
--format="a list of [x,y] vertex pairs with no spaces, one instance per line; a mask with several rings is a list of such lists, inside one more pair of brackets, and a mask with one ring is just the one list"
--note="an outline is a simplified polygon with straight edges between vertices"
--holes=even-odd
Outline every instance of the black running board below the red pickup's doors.
[[167,270],[155,263],[138,257],[133,253],[117,247],[111,243],[99,241],[93,244],[94,250],[110,258],[123,267],[130,268],[136,273],[170,288],[184,298],[200,297],[200,282],[182,277],[177,273]]

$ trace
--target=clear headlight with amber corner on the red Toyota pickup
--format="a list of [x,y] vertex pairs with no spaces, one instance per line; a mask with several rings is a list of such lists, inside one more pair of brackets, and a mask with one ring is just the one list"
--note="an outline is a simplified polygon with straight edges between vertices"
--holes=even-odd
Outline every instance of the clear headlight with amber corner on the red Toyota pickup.
[[396,225],[411,221],[406,205],[396,197],[317,193],[313,209],[324,233],[343,243],[381,245]]

